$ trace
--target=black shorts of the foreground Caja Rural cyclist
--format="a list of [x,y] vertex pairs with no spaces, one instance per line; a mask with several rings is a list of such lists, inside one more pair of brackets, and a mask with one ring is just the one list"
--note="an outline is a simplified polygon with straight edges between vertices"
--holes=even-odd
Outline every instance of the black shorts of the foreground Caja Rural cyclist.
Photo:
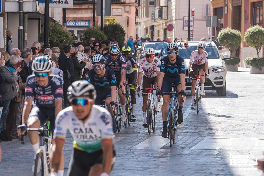
[[[102,164],[103,151],[98,150],[93,153],[81,151],[76,148],[72,151],[69,164],[68,176],[87,176],[92,166]],[[115,160],[115,150],[113,150],[112,167]]]

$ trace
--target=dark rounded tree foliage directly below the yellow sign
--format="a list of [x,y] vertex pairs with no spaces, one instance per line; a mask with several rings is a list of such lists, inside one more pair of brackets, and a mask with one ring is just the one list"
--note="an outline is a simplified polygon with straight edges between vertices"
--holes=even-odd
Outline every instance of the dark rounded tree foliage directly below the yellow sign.
[[104,33],[107,37],[112,37],[115,41],[118,41],[119,47],[124,46],[126,32],[119,23],[105,25]]

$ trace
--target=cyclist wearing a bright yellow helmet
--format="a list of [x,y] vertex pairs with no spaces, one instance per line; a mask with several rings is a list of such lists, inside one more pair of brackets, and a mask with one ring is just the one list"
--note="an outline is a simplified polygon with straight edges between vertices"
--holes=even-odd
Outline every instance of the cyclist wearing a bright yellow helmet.
[[132,49],[129,46],[124,46],[121,49],[122,54],[126,58],[126,79],[128,80],[128,84],[132,84],[133,86],[129,86],[130,96],[131,96],[131,104],[132,104],[132,116],[131,121],[135,122],[135,110],[136,110],[136,92],[135,89],[137,87],[137,63],[135,58],[130,56]]

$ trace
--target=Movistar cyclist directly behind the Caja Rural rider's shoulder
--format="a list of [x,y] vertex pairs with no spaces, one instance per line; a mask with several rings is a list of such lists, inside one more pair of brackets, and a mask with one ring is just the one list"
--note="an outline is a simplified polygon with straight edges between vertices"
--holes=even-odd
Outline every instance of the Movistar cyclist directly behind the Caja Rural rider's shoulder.
[[[94,85],[97,96],[96,105],[111,104],[116,105],[116,76],[113,70],[105,68],[105,59],[102,54],[96,54],[92,59],[93,69],[88,71],[87,81]],[[105,100],[105,102],[104,102]],[[113,108],[108,107],[108,111],[113,118],[113,131],[117,131]]]

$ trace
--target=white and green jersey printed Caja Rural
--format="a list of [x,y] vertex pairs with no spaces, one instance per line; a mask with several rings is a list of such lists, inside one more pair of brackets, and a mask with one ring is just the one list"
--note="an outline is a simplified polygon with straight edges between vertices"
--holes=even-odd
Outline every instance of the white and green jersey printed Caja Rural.
[[74,138],[74,148],[88,153],[101,150],[102,140],[113,140],[111,114],[97,105],[93,105],[90,117],[84,124],[75,116],[70,106],[58,113],[55,125],[54,139],[65,140],[69,129]]

